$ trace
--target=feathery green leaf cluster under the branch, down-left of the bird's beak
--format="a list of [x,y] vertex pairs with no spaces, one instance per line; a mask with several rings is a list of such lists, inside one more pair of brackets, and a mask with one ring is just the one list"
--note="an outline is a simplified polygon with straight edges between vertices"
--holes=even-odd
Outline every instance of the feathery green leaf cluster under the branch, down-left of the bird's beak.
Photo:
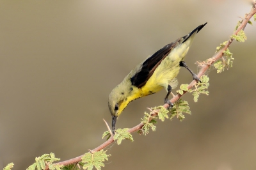
[[100,170],[101,167],[105,166],[103,162],[108,160],[109,156],[111,155],[107,155],[106,151],[104,150],[96,151],[94,153],[85,153],[82,157],[82,162],[84,163],[83,169],[89,170],[95,167],[96,169]]

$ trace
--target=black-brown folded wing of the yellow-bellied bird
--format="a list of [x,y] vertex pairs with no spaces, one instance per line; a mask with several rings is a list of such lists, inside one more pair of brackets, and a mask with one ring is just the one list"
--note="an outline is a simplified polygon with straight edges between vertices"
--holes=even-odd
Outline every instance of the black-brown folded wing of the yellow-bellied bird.
[[164,58],[166,58],[166,56],[168,56],[168,54],[179,40],[180,38],[175,42],[165,45],[150,58],[146,59],[141,66],[141,70],[131,77],[132,85],[136,86],[137,88],[144,86],[156,70],[157,66],[161,63],[161,61],[163,61]]

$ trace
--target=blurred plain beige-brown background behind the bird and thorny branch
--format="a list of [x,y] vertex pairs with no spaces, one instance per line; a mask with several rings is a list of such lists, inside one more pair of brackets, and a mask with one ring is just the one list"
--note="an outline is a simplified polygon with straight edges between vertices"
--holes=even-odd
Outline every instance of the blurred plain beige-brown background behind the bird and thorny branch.
[[[61,160],[102,144],[111,123],[108,95],[131,69],[200,24],[185,59],[211,58],[232,35],[246,1],[0,1],[0,169],[26,169],[35,157]],[[255,25],[255,22],[253,22]],[[256,169],[255,26],[234,42],[233,68],[209,72],[209,96],[192,115],[157,124],[134,142],[112,144],[103,169]],[[181,68],[179,84],[192,81]],[[116,128],[140,123],[166,91],[132,102]]]

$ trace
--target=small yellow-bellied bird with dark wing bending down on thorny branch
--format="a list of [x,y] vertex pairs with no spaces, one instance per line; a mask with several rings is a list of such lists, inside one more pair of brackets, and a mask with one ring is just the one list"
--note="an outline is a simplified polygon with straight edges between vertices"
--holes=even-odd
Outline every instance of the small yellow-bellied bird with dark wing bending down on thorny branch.
[[168,99],[172,88],[178,84],[177,75],[180,66],[185,67],[192,74],[196,82],[200,79],[192,72],[183,61],[188,53],[196,33],[205,25],[196,27],[188,35],[182,36],[172,43],[165,45],[142,63],[137,65],[109,94],[108,107],[112,115],[112,130],[115,134],[116,119],[125,107],[133,100],[157,93],[166,89],[167,95],[164,103],[172,107]]

